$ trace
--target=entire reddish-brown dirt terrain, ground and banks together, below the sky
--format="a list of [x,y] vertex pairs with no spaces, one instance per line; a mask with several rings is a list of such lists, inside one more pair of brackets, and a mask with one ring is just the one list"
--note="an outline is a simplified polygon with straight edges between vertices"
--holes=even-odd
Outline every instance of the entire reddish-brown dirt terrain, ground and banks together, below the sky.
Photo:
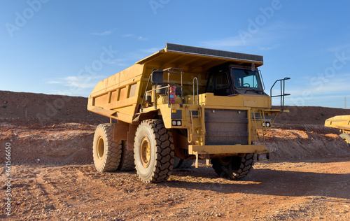
[[[64,106],[51,110],[48,104],[55,107],[59,99]],[[242,180],[219,178],[201,164],[146,185],[135,171],[94,169],[94,129],[106,119],[88,115],[86,100],[0,91],[6,106],[0,106],[0,219],[350,220],[350,148],[339,131],[322,125],[323,118],[349,110],[289,107],[294,112],[279,117],[265,141],[257,142],[267,146],[272,160],[256,162]],[[23,116],[24,106],[33,111],[30,117]],[[34,115],[39,110],[45,119]]]

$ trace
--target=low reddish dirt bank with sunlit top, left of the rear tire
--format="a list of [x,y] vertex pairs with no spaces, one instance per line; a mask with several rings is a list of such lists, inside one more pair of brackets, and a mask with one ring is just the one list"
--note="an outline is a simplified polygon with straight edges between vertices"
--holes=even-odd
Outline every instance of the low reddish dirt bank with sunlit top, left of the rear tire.
[[[3,124],[4,125],[4,124]],[[91,164],[94,126],[68,123],[51,127],[1,127],[0,145],[11,143],[14,164]]]

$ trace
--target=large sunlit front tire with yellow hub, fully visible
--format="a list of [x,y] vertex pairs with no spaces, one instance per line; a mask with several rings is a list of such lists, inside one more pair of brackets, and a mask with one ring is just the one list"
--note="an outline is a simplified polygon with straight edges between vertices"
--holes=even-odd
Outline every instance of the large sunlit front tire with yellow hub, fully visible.
[[134,143],[137,175],[144,183],[167,180],[174,164],[172,132],[161,120],[144,120],[137,127]]

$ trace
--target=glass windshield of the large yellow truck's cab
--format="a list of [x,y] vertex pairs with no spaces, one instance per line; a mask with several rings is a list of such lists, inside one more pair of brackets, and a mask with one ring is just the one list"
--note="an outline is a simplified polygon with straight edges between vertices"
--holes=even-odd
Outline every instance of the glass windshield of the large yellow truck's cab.
[[258,71],[232,68],[232,75],[237,89],[262,91],[262,84]]

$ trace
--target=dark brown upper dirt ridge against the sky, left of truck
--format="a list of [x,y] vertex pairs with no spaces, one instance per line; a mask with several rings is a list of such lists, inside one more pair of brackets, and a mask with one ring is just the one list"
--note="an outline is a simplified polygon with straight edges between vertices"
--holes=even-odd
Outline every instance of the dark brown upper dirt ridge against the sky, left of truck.
[[87,110],[86,97],[0,91],[0,122],[52,124],[109,120]]

